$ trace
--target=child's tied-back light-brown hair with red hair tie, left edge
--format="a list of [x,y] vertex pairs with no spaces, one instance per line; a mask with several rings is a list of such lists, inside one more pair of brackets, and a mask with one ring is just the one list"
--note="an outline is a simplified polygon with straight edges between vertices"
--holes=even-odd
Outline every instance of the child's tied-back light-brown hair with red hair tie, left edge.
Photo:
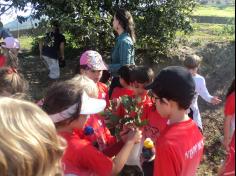
[[17,93],[27,93],[28,82],[24,76],[15,68],[0,68],[0,95],[14,95]]

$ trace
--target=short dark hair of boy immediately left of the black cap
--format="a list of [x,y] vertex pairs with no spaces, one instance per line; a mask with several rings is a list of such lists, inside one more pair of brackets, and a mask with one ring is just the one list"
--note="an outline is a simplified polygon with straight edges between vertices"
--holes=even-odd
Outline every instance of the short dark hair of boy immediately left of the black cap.
[[149,84],[154,79],[152,68],[147,66],[138,66],[130,72],[130,82],[138,82],[141,84]]

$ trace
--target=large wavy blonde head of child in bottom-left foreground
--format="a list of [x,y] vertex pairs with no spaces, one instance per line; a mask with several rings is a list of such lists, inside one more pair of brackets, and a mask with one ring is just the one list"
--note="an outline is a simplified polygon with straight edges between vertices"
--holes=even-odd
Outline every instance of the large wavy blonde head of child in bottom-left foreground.
[[62,175],[65,142],[48,115],[36,105],[0,98],[1,176]]

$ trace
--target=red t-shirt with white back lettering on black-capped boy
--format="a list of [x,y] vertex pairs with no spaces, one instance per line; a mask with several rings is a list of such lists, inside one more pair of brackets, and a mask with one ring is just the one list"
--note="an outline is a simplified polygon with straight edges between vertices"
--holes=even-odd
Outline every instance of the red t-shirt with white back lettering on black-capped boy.
[[196,175],[203,136],[193,120],[168,125],[157,139],[154,176]]

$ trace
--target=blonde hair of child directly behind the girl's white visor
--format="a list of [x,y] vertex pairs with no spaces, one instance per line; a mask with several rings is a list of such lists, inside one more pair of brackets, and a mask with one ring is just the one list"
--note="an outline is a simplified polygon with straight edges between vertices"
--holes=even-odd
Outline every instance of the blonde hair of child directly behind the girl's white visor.
[[89,79],[87,76],[76,75],[71,80],[74,84],[77,84],[83,91],[85,91],[89,97],[98,98],[98,88],[95,82]]

